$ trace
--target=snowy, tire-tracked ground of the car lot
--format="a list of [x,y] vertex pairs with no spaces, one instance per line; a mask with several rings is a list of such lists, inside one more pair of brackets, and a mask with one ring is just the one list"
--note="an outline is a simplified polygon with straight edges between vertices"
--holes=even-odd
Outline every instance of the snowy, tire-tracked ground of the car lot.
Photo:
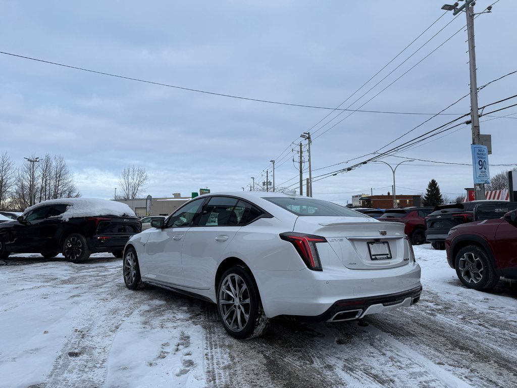
[[416,246],[424,292],[361,322],[276,321],[226,335],[214,306],[124,286],[121,260],[0,262],[0,387],[509,387],[517,288],[464,288],[445,251]]

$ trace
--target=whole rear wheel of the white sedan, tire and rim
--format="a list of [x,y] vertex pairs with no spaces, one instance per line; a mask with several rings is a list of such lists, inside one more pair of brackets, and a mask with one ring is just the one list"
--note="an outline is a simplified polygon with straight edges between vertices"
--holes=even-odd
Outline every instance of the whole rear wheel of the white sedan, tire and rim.
[[233,266],[221,276],[217,311],[224,330],[232,337],[249,339],[266,332],[268,319],[255,280],[246,266]]

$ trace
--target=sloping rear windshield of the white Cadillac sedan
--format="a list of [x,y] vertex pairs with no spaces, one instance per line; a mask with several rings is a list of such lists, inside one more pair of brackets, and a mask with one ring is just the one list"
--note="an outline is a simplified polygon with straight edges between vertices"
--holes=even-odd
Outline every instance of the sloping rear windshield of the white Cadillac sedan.
[[310,197],[267,197],[264,199],[296,214],[297,216],[370,218],[336,203]]

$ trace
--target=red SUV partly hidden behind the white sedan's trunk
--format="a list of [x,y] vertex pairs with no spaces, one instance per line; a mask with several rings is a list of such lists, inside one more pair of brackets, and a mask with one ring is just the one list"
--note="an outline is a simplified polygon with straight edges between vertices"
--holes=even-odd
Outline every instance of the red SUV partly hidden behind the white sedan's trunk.
[[433,211],[433,207],[398,207],[387,209],[378,217],[379,221],[397,221],[405,225],[404,232],[413,245],[425,243],[425,217]]

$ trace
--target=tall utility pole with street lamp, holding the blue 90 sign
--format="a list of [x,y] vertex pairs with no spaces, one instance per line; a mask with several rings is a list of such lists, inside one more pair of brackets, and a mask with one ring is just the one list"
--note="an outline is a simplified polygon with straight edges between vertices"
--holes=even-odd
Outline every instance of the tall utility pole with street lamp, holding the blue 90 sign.
[[[467,38],[468,38],[468,64],[470,74],[470,116],[472,123],[472,144],[482,144],[481,133],[479,130],[479,109],[478,109],[478,86],[476,79],[476,44],[474,43],[474,1],[465,0],[465,4],[458,8],[458,3],[453,5],[445,4],[442,9],[452,11],[455,16],[463,9],[467,16]],[[486,8],[486,12],[491,12],[492,6]],[[481,12],[483,13],[483,12]],[[476,166],[473,166],[476,168]],[[486,199],[485,187],[483,183],[474,183],[474,195],[476,200]]]

